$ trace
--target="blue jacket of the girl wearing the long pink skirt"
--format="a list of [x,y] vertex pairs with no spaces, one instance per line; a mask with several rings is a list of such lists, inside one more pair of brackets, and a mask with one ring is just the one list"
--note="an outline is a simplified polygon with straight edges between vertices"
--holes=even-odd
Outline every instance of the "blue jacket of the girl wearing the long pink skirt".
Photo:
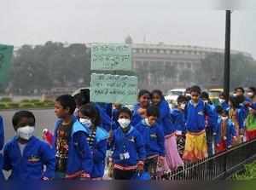
[[175,132],[175,126],[172,121],[170,107],[168,102],[163,99],[159,105],[160,117],[157,119],[158,124],[164,131],[165,135],[170,135]]

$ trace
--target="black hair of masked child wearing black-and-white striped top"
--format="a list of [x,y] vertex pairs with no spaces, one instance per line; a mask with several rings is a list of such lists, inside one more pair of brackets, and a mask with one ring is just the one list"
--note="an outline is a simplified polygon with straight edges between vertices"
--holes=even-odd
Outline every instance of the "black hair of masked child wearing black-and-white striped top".
[[83,105],[82,107],[79,108],[79,112],[81,112],[82,115],[90,118],[92,123],[95,126],[99,126],[101,124],[100,113],[98,112],[98,110],[96,109],[96,107],[93,104],[88,103],[88,104]]

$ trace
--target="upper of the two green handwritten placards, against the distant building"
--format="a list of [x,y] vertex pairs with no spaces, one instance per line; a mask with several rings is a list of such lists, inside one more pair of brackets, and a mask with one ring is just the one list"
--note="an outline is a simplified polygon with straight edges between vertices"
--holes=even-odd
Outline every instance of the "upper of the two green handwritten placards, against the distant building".
[[95,43],[91,47],[90,69],[131,71],[131,46],[118,43]]

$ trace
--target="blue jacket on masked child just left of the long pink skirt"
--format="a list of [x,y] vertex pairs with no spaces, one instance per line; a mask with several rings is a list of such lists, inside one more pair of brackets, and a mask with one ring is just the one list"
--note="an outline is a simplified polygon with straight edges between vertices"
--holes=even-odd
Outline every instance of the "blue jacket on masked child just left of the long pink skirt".
[[143,136],[147,157],[153,155],[165,156],[165,135],[159,124],[148,126],[143,120],[135,128]]

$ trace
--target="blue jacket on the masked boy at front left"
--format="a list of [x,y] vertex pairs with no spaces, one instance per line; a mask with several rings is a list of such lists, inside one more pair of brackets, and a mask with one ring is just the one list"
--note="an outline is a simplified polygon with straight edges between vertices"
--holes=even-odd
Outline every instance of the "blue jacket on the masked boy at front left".
[[[45,172],[44,165],[46,165]],[[4,147],[3,170],[12,170],[9,180],[15,181],[40,180],[44,176],[53,178],[55,176],[54,151],[47,143],[32,136],[21,156],[18,137],[15,136]]]

